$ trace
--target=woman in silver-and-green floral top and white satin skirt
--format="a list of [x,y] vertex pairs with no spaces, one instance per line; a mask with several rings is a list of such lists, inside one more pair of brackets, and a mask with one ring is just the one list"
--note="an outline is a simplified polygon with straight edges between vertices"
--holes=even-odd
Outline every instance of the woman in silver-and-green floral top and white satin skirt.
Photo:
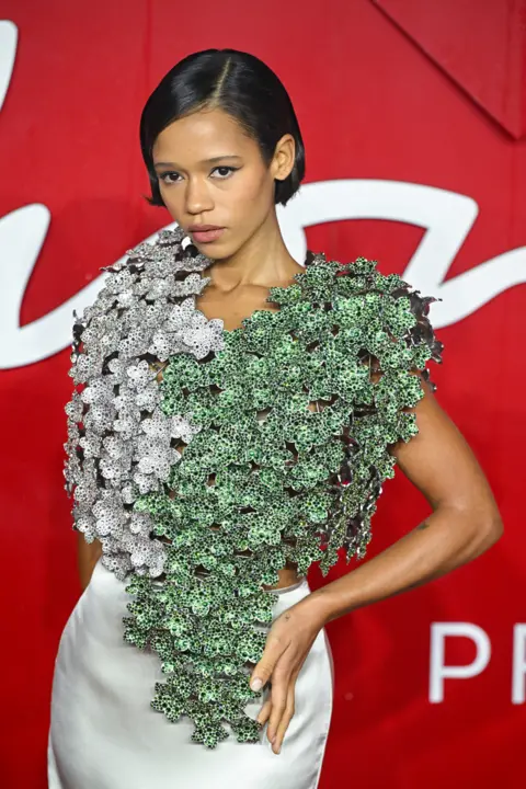
[[[275,206],[305,152],[277,77],[244,53],[191,55],[140,141],[178,228],[128,250],[73,330],[84,591],[57,656],[49,786],[311,789],[324,625],[476,558],[501,518],[428,384],[433,299],[363,258],[299,265],[285,247]],[[364,556],[397,462],[432,515],[311,592],[313,561]]]

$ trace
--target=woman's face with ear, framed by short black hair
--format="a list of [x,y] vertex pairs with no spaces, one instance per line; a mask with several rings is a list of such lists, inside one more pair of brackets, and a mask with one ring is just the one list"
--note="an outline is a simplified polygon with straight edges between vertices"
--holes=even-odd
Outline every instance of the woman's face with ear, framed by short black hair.
[[[282,137],[265,165],[255,140],[221,110],[175,121],[157,137],[153,165],[164,205],[197,249],[211,259],[232,255],[275,213],[274,179],[294,167],[294,138]],[[215,225],[215,240],[192,227]]]

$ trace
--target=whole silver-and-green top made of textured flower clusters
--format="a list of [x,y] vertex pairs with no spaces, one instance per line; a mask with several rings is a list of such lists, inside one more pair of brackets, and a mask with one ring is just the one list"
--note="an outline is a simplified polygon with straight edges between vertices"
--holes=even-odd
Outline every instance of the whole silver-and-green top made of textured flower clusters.
[[227,331],[195,307],[213,261],[183,239],[128,250],[75,316],[65,476],[73,528],[127,581],[125,640],[160,658],[152,707],[216,747],[226,723],[260,739],[244,707],[277,597],[262,585],[287,561],[327,575],[340,549],[365,556],[389,446],[418,433],[415,373],[443,344],[436,299],[310,251],[270,288],[277,311]]

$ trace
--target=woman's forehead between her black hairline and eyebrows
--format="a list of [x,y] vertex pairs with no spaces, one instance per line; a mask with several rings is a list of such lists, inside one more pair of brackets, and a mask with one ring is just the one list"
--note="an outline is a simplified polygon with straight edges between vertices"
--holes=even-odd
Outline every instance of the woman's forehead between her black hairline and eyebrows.
[[240,124],[220,110],[203,110],[174,121],[156,139],[153,161],[199,162],[215,156],[250,156],[258,151]]

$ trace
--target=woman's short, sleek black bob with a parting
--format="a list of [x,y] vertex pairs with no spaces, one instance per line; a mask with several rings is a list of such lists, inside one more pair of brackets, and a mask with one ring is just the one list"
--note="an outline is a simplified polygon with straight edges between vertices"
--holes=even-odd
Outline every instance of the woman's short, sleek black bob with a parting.
[[204,49],[180,60],[162,78],[140,116],[140,148],[150,179],[150,205],[164,206],[152,149],[171,123],[199,110],[219,108],[236,118],[260,147],[268,165],[277,141],[290,134],[296,160],[284,181],[275,181],[274,203],[286,205],[305,176],[305,147],[290,98],[262,60],[238,49]]

